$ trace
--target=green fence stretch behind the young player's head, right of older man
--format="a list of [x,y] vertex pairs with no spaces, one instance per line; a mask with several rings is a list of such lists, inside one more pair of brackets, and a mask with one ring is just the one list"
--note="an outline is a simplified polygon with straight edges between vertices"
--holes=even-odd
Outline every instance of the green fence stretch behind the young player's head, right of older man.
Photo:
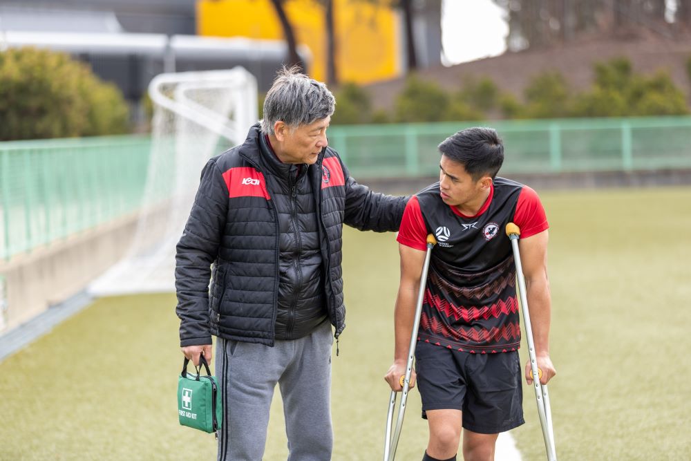
[[329,140],[356,178],[435,176],[437,145],[468,126],[504,140],[502,173],[691,168],[691,117],[332,126]]

